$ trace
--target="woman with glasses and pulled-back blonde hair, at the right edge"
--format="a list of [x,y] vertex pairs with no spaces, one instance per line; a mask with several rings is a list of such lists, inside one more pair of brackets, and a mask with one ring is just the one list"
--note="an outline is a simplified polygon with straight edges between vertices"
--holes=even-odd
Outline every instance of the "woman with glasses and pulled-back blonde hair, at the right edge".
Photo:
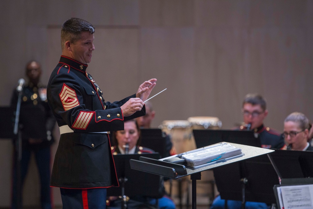
[[308,142],[311,124],[301,112],[293,112],[284,121],[284,133],[287,149],[313,151],[312,143]]

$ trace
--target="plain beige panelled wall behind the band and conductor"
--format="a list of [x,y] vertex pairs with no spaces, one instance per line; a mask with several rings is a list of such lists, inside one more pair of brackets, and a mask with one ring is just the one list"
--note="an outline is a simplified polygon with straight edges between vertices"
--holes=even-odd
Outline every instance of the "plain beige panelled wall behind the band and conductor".
[[[294,111],[313,120],[312,0],[2,0],[0,105],[9,105],[25,63],[43,65],[42,81],[59,61],[60,28],[71,17],[95,28],[88,72],[107,101],[157,78],[153,126],[163,120],[218,117],[223,128],[242,121],[247,93],[267,99],[265,125],[279,131]],[[3,118],[1,118],[3,120]],[[59,132],[56,129],[55,134]],[[57,143],[53,146],[53,153]],[[12,143],[0,140],[0,207],[10,205]],[[24,205],[38,205],[32,162]],[[61,205],[53,188],[54,204]]]

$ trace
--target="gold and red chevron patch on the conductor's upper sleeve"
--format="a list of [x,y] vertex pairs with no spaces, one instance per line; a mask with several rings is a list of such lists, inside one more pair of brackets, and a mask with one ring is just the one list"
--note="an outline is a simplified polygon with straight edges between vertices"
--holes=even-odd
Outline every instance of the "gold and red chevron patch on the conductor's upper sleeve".
[[79,105],[76,92],[69,86],[66,86],[65,83],[63,84],[63,88],[59,96],[65,111]]

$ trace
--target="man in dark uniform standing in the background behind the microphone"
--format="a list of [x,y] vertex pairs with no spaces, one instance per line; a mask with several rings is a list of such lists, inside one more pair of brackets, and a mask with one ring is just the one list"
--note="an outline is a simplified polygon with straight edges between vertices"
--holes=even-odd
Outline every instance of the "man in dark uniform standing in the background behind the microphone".
[[[22,89],[19,122],[22,135],[22,158],[20,163],[20,180],[24,182],[28,171],[29,160],[33,153],[40,176],[40,203],[41,208],[50,209],[50,159],[51,145],[54,142],[52,131],[55,127],[55,118],[47,102],[47,88],[40,82],[41,65],[37,61],[30,61],[26,65],[28,82]],[[13,92],[11,106],[16,108],[18,91]],[[17,192],[16,166],[13,169],[12,209],[19,208]],[[17,205],[19,204],[19,206]]]

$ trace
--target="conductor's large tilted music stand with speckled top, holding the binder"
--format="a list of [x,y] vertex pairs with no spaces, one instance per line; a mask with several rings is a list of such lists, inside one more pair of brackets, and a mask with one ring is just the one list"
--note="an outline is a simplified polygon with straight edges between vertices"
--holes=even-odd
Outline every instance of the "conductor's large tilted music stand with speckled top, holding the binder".
[[[224,143],[224,142],[223,142]],[[228,142],[226,142],[228,143]],[[274,150],[263,149],[259,147],[247,146],[242,144],[229,143],[236,148],[240,148],[242,152],[245,154],[239,158],[224,160],[222,162],[218,162],[212,165],[203,166],[198,169],[189,169],[186,168],[185,165],[179,165],[176,163],[156,160],[156,159],[148,159],[148,158],[140,158],[139,160],[130,160],[131,168],[135,170],[141,170],[148,173],[153,173],[157,175],[166,176],[169,178],[177,179],[183,176],[190,175],[192,180],[192,208],[195,209],[197,206],[196,199],[196,190],[197,190],[197,180],[201,179],[201,172],[209,169],[214,169],[219,166],[224,166],[228,164],[232,164],[238,161],[246,160],[249,158],[253,158],[259,155],[268,154],[274,152]],[[226,174],[229,174],[229,170]]]

